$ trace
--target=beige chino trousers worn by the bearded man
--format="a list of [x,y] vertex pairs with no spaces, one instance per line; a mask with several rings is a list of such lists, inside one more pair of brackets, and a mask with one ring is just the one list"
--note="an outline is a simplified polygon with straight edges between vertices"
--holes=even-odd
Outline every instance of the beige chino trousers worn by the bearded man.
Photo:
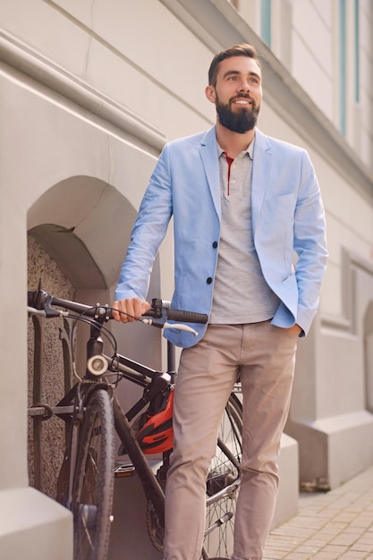
[[182,351],[174,393],[174,452],[165,489],[165,559],[199,560],[206,477],[217,430],[242,382],[242,484],[233,560],[259,560],[276,505],[277,458],[292,392],[298,336],[270,321],[210,325]]

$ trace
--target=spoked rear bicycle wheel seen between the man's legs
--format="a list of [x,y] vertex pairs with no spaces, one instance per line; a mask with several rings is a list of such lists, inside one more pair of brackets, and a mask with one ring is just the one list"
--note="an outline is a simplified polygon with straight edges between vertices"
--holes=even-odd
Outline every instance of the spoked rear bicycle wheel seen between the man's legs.
[[240,487],[242,403],[232,394],[219,428],[216,456],[207,480],[207,515],[203,557],[230,557],[233,522]]

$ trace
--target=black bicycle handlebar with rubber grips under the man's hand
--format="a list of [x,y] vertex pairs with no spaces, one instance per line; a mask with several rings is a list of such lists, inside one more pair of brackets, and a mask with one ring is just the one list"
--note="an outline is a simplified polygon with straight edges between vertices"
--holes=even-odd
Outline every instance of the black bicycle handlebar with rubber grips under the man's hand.
[[[78,303],[77,301],[63,300],[53,295],[44,292],[43,290],[35,290],[28,292],[28,306],[33,310],[45,311],[48,318],[58,317],[61,315],[59,310],[55,310],[52,305],[63,307],[66,310],[73,311],[85,315],[86,317],[99,318],[109,320],[113,318],[112,309],[107,305],[100,305],[97,303],[95,306]],[[182,323],[201,323],[208,322],[208,315],[204,313],[196,313],[194,311],[174,310],[168,307],[168,304],[162,300],[154,299],[151,301],[151,308],[144,316],[156,319],[165,318],[170,321],[178,321]],[[141,319],[140,319],[141,320]],[[151,322],[156,327],[162,327],[163,324],[157,325],[155,321]],[[171,327],[171,326],[170,326]]]

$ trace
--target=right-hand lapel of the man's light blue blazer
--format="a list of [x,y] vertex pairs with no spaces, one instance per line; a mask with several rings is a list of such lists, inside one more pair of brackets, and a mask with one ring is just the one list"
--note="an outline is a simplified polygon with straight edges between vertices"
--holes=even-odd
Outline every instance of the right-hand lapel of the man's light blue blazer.
[[267,140],[267,136],[257,129],[255,132],[251,180],[251,223],[253,233],[255,233],[258,224],[260,210],[266,193],[271,163],[271,145]]

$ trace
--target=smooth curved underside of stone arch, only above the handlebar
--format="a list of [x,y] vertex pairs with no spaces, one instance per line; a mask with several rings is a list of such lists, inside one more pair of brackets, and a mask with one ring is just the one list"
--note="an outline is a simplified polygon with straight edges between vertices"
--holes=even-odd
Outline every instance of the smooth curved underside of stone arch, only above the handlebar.
[[28,231],[77,289],[116,283],[136,209],[113,186],[88,176],[55,184],[32,205]]

